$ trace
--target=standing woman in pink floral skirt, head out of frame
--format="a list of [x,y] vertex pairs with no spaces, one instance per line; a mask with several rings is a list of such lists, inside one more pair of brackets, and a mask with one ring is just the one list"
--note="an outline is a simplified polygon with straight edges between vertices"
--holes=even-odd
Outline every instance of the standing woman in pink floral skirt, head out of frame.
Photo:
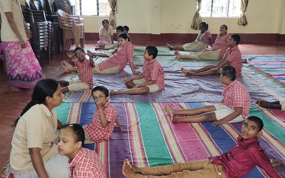
[[20,0],[0,0],[0,13],[1,44],[10,90],[18,92],[18,88],[34,88],[44,74],[27,41],[27,26],[22,17]]

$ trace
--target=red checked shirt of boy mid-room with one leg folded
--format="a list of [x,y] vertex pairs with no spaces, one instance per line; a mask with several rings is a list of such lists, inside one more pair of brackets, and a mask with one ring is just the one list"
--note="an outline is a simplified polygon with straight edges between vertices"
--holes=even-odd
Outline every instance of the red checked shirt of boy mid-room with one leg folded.
[[143,74],[145,76],[146,82],[154,80],[159,90],[163,90],[164,71],[162,66],[158,63],[158,61],[155,58],[150,62],[145,60],[143,67]]

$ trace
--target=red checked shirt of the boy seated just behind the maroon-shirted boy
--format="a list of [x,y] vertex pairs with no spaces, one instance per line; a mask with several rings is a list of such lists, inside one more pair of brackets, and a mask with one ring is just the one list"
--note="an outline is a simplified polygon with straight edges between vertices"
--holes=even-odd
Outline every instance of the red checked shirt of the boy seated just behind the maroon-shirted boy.
[[224,105],[234,110],[236,107],[242,107],[242,117],[246,118],[248,116],[250,96],[240,81],[234,80],[228,86],[224,85],[222,96]]

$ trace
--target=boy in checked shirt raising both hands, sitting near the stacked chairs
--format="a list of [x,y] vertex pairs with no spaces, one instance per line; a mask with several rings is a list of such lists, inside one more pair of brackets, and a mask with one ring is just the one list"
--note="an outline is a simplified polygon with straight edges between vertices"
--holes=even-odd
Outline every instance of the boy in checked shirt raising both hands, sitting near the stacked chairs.
[[89,90],[93,88],[93,72],[94,61],[92,56],[89,56],[89,61],[86,59],[84,49],[77,47],[74,49],[75,56],[77,60],[69,59],[69,63],[77,67],[78,79],[71,81],[60,80],[58,81],[61,85],[65,87],[62,88],[62,93]]

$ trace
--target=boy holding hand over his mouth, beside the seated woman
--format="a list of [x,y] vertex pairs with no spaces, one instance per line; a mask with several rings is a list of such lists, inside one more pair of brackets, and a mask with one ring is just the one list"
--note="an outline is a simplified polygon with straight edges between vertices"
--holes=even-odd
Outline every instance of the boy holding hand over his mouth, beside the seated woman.
[[113,129],[120,126],[115,107],[108,102],[109,91],[104,86],[96,86],[92,89],[92,97],[96,104],[92,122],[83,126],[86,143],[100,142],[111,138]]

